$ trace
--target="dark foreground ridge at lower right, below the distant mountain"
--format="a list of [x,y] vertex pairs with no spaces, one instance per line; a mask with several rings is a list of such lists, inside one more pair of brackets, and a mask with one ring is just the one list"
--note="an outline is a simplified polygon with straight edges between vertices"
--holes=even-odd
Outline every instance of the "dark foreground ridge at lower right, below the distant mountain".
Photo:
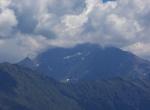
[[75,99],[84,110],[149,110],[150,82],[115,78],[81,81],[63,94]]

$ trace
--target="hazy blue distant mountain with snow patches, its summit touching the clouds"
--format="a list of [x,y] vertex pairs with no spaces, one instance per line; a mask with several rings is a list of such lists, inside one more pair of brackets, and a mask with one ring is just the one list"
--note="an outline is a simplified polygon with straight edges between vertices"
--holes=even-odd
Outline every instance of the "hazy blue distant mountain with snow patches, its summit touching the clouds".
[[[109,79],[113,77],[148,78],[150,62],[114,47],[83,44],[73,48],[52,48],[22,66],[40,70],[57,79]],[[32,62],[32,63],[31,63]],[[31,65],[33,64],[33,65]]]

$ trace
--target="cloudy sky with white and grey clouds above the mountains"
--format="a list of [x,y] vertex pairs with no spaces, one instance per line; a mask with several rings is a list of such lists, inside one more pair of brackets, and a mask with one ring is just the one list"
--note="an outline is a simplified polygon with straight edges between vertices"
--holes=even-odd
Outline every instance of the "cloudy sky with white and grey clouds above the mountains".
[[150,59],[150,0],[0,0],[0,62],[53,46],[114,46]]

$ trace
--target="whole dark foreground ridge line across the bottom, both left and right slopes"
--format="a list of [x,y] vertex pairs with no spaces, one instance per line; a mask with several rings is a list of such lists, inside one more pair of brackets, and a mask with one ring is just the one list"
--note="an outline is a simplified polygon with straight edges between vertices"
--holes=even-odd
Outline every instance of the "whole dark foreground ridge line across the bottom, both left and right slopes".
[[149,110],[150,80],[112,78],[60,83],[0,64],[0,110]]

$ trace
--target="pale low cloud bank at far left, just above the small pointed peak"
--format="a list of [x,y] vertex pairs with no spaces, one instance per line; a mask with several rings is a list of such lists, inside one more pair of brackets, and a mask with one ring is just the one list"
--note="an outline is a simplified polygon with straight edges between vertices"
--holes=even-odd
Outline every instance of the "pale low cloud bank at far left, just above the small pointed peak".
[[22,58],[34,58],[50,45],[43,36],[17,33],[15,37],[0,40],[0,61],[18,62]]

